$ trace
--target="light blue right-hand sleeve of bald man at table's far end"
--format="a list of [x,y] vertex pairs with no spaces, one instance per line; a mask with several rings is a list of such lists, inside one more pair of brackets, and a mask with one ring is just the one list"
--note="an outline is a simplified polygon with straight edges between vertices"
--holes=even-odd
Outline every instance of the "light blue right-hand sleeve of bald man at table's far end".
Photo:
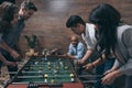
[[85,53],[85,45],[82,43],[79,43],[77,47],[77,55],[75,56],[77,59],[82,58],[84,53]]

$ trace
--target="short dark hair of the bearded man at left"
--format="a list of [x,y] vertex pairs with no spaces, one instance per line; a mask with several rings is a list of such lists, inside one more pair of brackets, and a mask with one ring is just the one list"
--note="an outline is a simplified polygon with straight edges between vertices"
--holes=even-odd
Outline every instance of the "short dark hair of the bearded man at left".
[[29,0],[28,0],[28,1],[23,1],[23,2],[21,3],[21,7],[24,7],[25,10],[34,10],[34,11],[37,11],[35,4],[34,4],[33,2],[31,2],[31,1],[29,1]]

